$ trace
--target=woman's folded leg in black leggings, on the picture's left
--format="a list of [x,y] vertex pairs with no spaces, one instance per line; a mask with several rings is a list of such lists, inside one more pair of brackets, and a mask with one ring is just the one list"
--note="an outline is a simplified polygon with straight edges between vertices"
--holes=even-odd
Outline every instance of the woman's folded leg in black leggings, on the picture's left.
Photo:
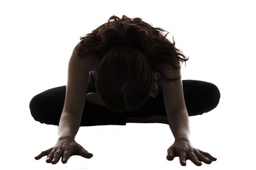
[[[88,85],[87,93],[96,92]],[[66,85],[48,89],[34,96],[29,107],[33,118],[40,123],[59,125],[66,94]],[[126,115],[110,113],[106,107],[86,101],[80,126],[126,125]]]

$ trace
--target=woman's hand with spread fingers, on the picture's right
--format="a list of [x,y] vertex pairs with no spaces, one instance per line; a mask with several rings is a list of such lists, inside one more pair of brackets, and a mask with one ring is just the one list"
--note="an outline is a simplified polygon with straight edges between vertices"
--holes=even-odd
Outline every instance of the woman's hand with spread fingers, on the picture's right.
[[217,158],[209,153],[194,148],[190,141],[185,139],[176,140],[174,144],[168,148],[167,153],[166,159],[169,161],[172,161],[174,157],[179,156],[179,162],[182,166],[186,166],[187,159],[190,159],[197,166],[202,165],[200,161],[206,164],[211,164],[212,161],[217,160]]

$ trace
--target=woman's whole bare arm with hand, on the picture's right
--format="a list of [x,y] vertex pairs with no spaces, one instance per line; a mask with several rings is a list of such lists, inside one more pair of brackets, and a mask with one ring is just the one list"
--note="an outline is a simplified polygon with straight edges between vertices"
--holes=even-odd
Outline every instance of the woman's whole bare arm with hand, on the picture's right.
[[[173,79],[181,76],[180,69],[162,67],[165,77]],[[167,150],[167,160],[173,160],[179,156],[179,162],[186,166],[186,160],[190,159],[195,165],[201,166],[202,162],[211,164],[216,161],[209,153],[205,153],[192,146],[189,141],[190,126],[189,117],[185,105],[182,80],[166,81],[160,77],[164,105],[171,131],[175,137],[174,144]]]

